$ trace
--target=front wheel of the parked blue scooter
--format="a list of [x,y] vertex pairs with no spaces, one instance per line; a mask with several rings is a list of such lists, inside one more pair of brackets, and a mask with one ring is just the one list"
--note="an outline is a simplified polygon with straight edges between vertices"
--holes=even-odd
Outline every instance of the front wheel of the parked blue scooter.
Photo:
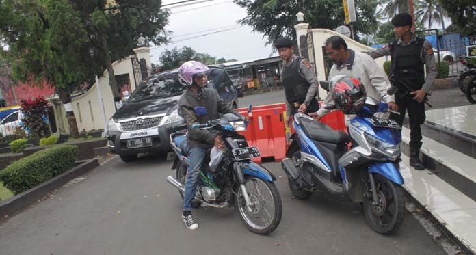
[[[380,234],[392,234],[404,222],[404,192],[399,185],[396,185],[380,174],[374,174],[373,177],[378,196],[378,204],[373,205],[371,196],[367,196],[369,198],[363,204],[365,217],[375,232]],[[365,192],[371,193],[370,191]]]

